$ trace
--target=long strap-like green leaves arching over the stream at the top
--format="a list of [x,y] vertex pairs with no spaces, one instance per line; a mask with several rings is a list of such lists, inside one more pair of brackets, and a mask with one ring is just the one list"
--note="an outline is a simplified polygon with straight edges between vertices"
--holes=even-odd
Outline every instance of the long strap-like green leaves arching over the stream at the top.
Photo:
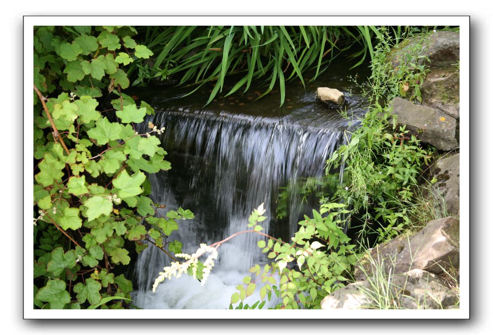
[[[156,57],[144,65],[131,65],[132,71],[139,72],[133,85],[145,84],[152,78],[177,77],[179,84],[198,84],[194,92],[205,83],[216,81],[209,103],[223,92],[226,76],[245,73],[226,96],[241,89],[246,92],[253,80],[261,79],[267,88],[258,99],[279,84],[282,105],[285,81],[297,78],[305,86],[303,73],[314,70],[311,80],[315,79],[334,57],[355,43],[362,45],[364,58],[366,49],[371,49],[369,38],[375,31],[363,34],[358,29],[341,26],[142,27],[140,33],[145,33],[145,44]],[[135,50],[138,57],[150,52],[140,50],[139,46]],[[120,58],[122,62],[125,57]]]

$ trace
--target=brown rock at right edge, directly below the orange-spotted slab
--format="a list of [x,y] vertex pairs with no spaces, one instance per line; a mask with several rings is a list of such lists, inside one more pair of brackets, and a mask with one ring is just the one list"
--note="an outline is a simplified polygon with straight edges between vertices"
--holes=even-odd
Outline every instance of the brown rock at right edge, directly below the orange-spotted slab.
[[438,160],[431,168],[432,175],[437,179],[438,192],[436,197],[443,198],[447,211],[459,216],[459,154]]

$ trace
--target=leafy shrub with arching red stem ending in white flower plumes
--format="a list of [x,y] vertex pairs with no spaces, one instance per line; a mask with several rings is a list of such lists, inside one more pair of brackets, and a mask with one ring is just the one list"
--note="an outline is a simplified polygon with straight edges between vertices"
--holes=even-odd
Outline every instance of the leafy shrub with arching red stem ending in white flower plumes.
[[[342,207],[344,205],[340,203],[322,204],[320,212],[313,211],[313,218],[305,216],[305,220],[299,223],[301,226],[299,231],[288,243],[262,233],[263,228],[259,223],[267,217],[263,216],[265,209],[261,204],[248,218],[248,227],[252,229],[235,233],[211,245],[201,244],[192,255],[176,255],[186,261],[174,262],[169,267],[165,267],[156,278],[153,291],[165,279],[178,277],[182,273],[189,273],[199,278],[196,270],[199,264],[203,264],[203,285],[214,266],[217,248],[221,244],[239,234],[259,234],[264,239],[259,240],[257,246],[262,248],[263,253],[268,253],[267,257],[274,259],[275,262],[263,267],[257,264],[249,269],[252,275],[246,276],[243,284],[237,286],[238,292],[231,296],[230,309],[238,302],[240,304],[236,306],[237,309],[262,308],[266,300],[273,298],[273,294],[282,301],[275,308],[319,308],[323,297],[344,286],[343,282],[348,280],[346,276],[350,275],[356,260],[353,253],[355,245],[348,244],[350,238],[339,226],[343,223],[339,215],[347,212],[340,209]],[[199,258],[206,253],[209,255],[202,263]],[[251,306],[244,305],[245,298],[251,296],[257,289],[261,301]]]

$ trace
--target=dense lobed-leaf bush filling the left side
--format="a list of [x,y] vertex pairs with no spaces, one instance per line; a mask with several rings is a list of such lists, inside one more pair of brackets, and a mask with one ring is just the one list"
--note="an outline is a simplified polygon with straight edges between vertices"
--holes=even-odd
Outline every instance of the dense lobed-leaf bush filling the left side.
[[[154,134],[164,129],[137,133],[133,124],[154,110],[120,93],[130,84],[125,66],[152,56],[132,39],[136,33],[120,26],[34,29],[35,308],[128,306],[133,288],[121,267],[131,262],[134,243],[125,240],[137,251],[143,240],[163,247],[163,237],[178,229],[174,219],[152,217],[159,205],[144,187],[144,172],[171,167]],[[105,114],[103,92],[118,96]],[[189,210],[178,213],[193,218]],[[174,241],[169,249],[181,247]]]

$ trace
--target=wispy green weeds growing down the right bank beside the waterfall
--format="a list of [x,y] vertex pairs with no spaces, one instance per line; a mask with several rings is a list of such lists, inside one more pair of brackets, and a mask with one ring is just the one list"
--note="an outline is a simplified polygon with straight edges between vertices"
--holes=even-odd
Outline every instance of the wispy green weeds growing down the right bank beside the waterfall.
[[[395,118],[389,122],[389,101],[394,97],[406,97],[411,92],[410,99],[421,101],[419,85],[426,75],[426,59],[418,53],[422,46],[418,43],[408,48],[409,54],[400,65],[392,67],[392,38],[386,29],[380,32],[372,76],[366,84],[370,109],[361,126],[346,134],[348,144],[339,147],[327,161],[327,172],[345,165],[346,185],[337,195],[351,206],[348,220],[352,220],[353,228],[359,227],[361,241],[367,234],[377,234],[377,241],[384,241],[413,226],[409,204],[416,200],[422,167],[433,155],[433,149],[423,148],[420,140],[395,123]],[[420,60],[422,65],[418,65]],[[411,89],[403,90],[404,84]],[[357,221],[360,226],[354,224]]]

